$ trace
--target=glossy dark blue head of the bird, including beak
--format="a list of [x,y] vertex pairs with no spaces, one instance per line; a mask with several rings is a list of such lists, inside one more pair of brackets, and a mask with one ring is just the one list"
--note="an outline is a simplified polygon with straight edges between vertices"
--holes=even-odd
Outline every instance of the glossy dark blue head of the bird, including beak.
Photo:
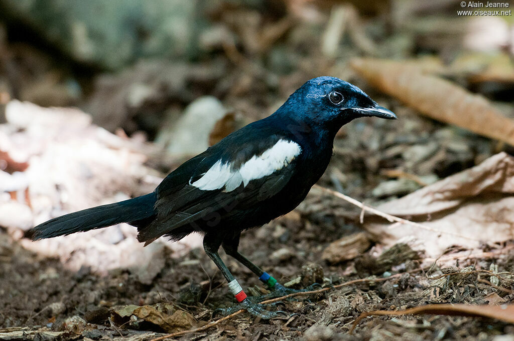
[[392,111],[379,106],[355,85],[326,76],[307,81],[289,96],[277,114],[333,134],[358,117],[396,119]]

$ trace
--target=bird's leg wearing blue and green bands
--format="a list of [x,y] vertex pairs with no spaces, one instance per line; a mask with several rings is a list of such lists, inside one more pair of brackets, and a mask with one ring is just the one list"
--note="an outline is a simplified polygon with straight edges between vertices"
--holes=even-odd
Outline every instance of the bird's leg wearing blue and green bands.
[[263,282],[268,287],[268,289],[272,291],[270,295],[266,295],[266,298],[280,297],[295,292],[306,291],[306,289],[295,290],[284,287],[282,284],[277,282],[277,279],[271,277],[267,272],[263,271],[261,268],[250,262],[248,258],[237,251],[240,236],[241,233],[237,233],[232,238],[225,238],[222,243],[223,249],[225,250],[225,253],[234,257],[236,260],[238,260],[238,262],[259,276],[261,282]]

